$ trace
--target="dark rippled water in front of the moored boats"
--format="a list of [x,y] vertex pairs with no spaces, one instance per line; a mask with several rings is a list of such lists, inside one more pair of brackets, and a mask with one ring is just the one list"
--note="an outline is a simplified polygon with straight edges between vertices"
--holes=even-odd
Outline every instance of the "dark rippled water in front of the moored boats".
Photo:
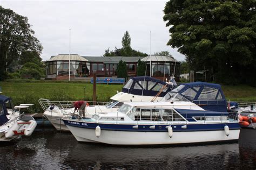
[[256,130],[238,143],[172,147],[116,147],[78,143],[71,133],[36,129],[0,143],[0,169],[255,169]]

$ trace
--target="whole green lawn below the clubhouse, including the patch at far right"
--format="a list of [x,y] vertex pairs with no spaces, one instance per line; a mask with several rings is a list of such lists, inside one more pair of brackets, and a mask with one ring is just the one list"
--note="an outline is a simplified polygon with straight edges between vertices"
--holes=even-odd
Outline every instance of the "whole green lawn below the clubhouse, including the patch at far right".
[[[2,81],[3,95],[10,96],[17,105],[32,103],[33,111],[42,111],[39,98],[51,101],[92,101],[92,84],[84,82],[52,82],[52,81]],[[97,101],[110,101],[110,97],[122,90],[122,84],[97,84]],[[246,85],[221,86],[225,97],[230,101],[256,101],[256,88]],[[84,93],[85,89],[85,93]]]

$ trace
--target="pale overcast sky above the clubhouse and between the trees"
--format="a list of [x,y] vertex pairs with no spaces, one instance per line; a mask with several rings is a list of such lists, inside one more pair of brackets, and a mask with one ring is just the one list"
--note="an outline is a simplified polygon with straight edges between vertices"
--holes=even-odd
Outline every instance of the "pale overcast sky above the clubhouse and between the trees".
[[3,8],[10,8],[29,19],[35,36],[43,45],[41,57],[69,53],[102,56],[105,49],[122,47],[127,30],[131,47],[151,54],[169,51],[178,61],[185,56],[167,46],[169,28],[163,21],[166,1],[60,1],[60,0],[0,0]]

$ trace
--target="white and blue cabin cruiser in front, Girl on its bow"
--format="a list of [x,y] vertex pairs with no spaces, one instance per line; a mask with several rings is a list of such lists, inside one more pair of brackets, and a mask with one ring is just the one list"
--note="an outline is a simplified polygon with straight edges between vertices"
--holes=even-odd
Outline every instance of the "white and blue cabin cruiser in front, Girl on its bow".
[[62,118],[78,141],[111,145],[169,145],[238,140],[237,117],[188,101],[130,102],[116,112]]

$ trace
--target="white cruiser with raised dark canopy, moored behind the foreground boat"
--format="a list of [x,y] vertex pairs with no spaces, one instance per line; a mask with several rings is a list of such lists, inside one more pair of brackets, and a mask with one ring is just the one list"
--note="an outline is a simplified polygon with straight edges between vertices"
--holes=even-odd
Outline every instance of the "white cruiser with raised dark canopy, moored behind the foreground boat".
[[[172,80],[174,81],[174,79]],[[146,102],[151,101],[153,98],[159,101],[162,100],[173,87],[173,83],[167,84],[166,82],[149,76],[131,77],[123,87],[122,92],[118,92],[111,97],[111,102],[105,105],[89,105],[85,108],[85,115],[87,117],[97,113],[114,112],[117,111],[124,102]],[[159,93],[161,89],[163,91]],[[158,96],[154,97],[156,95]],[[57,130],[69,131],[62,121],[62,117],[78,116],[77,111],[75,115],[73,114],[74,108],[71,108],[72,101],[49,101],[48,99],[40,98],[38,102],[44,110],[44,116]],[[103,102],[99,103],[102,104]]]

